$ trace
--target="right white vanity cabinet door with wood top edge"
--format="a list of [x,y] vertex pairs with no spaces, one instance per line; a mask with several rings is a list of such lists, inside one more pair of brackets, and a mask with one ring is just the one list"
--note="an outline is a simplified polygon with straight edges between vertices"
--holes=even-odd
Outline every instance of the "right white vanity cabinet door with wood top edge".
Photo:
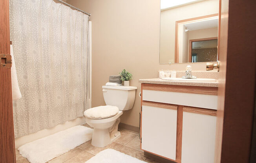
[[182,163],[214,163],[216,111],[183,108]]

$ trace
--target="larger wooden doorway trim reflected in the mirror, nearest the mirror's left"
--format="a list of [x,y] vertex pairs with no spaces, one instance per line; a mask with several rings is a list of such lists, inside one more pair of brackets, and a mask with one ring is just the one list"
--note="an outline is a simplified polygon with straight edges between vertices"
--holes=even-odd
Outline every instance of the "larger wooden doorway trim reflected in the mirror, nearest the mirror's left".
[[190,22],[196,22],[198,20],[202,19],[210,19],[214,16],[218,16],[219,14],[210,14],[210,15],[205,15],[205,16],[199,16],[195,18],[189,18],[189,19],[184,19],[184,20],[178,20],[175,22],[175,53],[174,53],[174,61],[175,63],[179,63],[179,25],[180,24],[186,24]]

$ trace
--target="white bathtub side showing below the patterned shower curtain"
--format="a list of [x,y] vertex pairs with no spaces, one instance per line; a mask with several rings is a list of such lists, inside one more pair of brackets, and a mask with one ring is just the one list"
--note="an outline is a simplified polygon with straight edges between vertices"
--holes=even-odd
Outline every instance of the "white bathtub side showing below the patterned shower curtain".
[[49,129],[43,129],[43,130],[40,130],[33,134],[29,134],[29,135],[22,136],[20,138],[16,138],[15,139],[15,148],[18,148],[18,147],[20,147],[26,143],[29,143],[31,141],[35,141],[37,139],[49,136],[51,134],[55,134],[56,132],[66,130],[70,127],[73,127],[76,125],[82,125],[84,123],[86,123],[85,117],[82,116],[82,117],[76,118],[75,120],[66,121],[65,123],[59,124],[55,127],[52,127]]

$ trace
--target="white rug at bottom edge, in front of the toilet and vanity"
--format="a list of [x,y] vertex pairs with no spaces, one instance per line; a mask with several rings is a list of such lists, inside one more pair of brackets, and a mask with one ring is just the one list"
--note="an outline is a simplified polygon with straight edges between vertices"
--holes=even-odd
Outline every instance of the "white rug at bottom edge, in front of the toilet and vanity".
[[105,149],[90,158],[86,163],[146,163],[137,158],[133,158],[122,152]]

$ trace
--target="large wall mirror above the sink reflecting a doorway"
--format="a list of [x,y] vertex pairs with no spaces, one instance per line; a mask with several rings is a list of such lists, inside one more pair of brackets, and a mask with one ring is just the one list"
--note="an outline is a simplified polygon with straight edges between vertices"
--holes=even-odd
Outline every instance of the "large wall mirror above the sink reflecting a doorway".
[[161,0],[160,64],[216,62],[219,0]]

